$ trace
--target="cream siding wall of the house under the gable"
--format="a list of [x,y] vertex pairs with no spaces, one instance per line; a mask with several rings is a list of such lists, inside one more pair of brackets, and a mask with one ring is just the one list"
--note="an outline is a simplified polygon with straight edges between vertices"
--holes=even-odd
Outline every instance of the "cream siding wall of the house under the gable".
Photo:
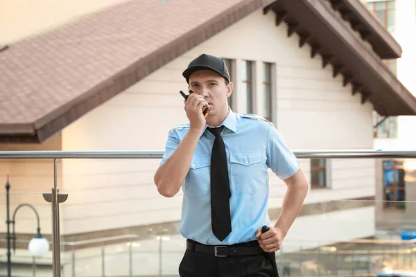
[[[275,26],[271,12],[265,16],[259,10],[65,128],[62,149],[164,150],[168,129],[187,123],[178,93],[187,89],[181,73],[200,53],[237,64],[243,59],[277,64],[276,125],[292,149],[371,148],[371,105],[361,105],[360,96],[352,96],[341,78],[333,79],[331,68],[322,69],[320,57],[311,60],[309,47],[299,48],[297,39],[286,36],[284,24]],[[158,163],[63,161],[63,187],[69,192],[62,207],[65,233],[180,220],[181,194],[166,199],[153,184]],[[312,191],[306,202],[374,195],[372,161],[331,165],[332,189]],[[309,176],[309,161],[302,161],[302,168]],[[280,206],[284,185],[270,180],[270,204]]]

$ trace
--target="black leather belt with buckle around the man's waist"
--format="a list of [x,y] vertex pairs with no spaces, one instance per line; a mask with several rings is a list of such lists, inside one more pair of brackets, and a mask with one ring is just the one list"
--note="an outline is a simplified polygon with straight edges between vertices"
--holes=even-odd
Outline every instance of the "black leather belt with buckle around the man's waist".
[[206,253],[214,255],[216,257],[227,256],[252,256],[259,255],[263,252],[259,244],[233,244],[233,245],[207,245],[194,242],[193,240],[187,240],[187,249],[195,252]]

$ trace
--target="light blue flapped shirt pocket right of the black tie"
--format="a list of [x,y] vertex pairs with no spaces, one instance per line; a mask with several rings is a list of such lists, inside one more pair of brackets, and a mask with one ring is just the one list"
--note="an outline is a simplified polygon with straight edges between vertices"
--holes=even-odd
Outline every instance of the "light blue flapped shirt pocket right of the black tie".
[[230,152],[229,168],[234,193],[255,194],[266,188],[267,166],[264,152]]

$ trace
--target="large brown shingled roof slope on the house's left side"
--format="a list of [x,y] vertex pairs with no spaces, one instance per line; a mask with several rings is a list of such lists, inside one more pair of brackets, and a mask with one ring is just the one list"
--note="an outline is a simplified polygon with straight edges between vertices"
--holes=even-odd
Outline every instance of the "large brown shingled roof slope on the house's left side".
[[[307,6],[308,0],[291,1]],[[48,139],[167,62],[272,2],[288,3],[128,1],[11,45],[0,52],[0,142]],[[331,36],[333,30],[324,28],[322,33]],[[328,44],[323,49],[331,47]],[[348,54],[354,51],[350,49]],[[365,87],[365,83],[360,85]],[[392,85],[396,87],[390,91],[375,92],[384,93],[378,111],[416,114],[415,98],[409,98],[408,91],[403,96],[402,85]],[[406,104],[404,99],[410,102]],[[397,105],[395,113],[385,109],[388,100]]]

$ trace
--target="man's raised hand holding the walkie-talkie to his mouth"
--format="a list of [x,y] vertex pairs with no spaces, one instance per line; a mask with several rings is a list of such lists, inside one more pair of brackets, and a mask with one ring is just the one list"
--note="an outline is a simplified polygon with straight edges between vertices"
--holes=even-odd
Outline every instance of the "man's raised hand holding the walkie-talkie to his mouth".
[[205,127],[205,116],[202,114],[202,108],[208,107],[207,101],[204,99],[204,96],[200,96],[197,93],[191,93],[188,97],[188,100],[184,100],[184,109],[187,112],[187,117],[189,118],[189,127],[191,129],[202,130]]

